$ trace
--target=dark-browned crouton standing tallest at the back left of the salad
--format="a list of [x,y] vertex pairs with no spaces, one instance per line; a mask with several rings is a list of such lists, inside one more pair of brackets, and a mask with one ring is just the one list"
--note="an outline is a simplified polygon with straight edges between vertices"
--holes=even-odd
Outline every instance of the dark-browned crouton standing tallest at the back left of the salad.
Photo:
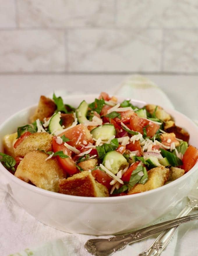
[[53,115],[54,111],[56,110],[56,104],[53,102],[52,99],[46,98],[45,96],[40,96],[40,100],[38,102],[38,107],[33,116],[30,118],[30,122],[33,123],[37,119],[43,121],[46,117],[50,117]]

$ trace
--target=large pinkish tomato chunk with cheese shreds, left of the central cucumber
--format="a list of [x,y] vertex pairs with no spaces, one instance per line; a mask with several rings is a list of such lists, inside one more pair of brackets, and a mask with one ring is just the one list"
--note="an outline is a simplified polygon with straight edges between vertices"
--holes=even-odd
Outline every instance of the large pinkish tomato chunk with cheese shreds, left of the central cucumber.
[[[80,134],[81,137],[79,139]],[[73,147],[76,147],[78,150],[82,148],[82,145],[80,144],[86,145],[88,143],[93,143],[91,133],[84,124],[76,125],[75,127],[64,131],[59,136],[63,135],[65,135],[66,138],[70,139],[70,141],[68,141],[67,143]]]

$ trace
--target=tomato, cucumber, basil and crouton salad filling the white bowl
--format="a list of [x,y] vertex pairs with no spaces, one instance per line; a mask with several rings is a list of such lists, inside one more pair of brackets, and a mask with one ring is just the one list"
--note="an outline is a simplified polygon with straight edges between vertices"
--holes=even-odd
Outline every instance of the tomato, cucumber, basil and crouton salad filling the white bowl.
[[[66,102],[67,103],[67,102]],[[101,93],[75,109],[40,97],[29,123],[3,137],[1,163],[26,183],[61,194],[113,197],[159,188],[197,162],[190,135],[162,107]]]

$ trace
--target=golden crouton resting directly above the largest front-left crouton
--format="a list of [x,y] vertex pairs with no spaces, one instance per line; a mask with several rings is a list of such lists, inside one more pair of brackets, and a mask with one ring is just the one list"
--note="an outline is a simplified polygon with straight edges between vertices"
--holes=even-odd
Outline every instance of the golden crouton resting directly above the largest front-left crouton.
[[47,132],[36,132],[24,139],[16,148],[15,155],[24,157],[24,155],[32,150],[52,150],[52,135]]

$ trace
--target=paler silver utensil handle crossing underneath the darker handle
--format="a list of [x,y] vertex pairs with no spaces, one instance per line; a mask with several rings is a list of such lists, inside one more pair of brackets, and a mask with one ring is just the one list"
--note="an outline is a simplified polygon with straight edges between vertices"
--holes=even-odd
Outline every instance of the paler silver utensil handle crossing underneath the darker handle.
[[[186,207],[180,212],[180,214],[176,217],[186,216],[192,211],[192,209],[197,208],[197,200],[190,200]],[[179,226],[172,227],[168,230],[163,231],[152,243],[152,245],[144,252],[140,253],[138,256],[158,256],[167,246],[174,233],[178,229]]]

